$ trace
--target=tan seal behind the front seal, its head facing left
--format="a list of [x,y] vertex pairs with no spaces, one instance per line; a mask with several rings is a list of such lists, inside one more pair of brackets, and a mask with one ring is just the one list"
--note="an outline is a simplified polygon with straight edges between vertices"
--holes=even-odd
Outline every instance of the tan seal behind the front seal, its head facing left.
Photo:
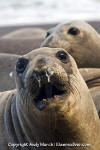
[[100,35],[84,21],[57,25],[47,32],[41,47],[69,49],[79,68],[100,67]]

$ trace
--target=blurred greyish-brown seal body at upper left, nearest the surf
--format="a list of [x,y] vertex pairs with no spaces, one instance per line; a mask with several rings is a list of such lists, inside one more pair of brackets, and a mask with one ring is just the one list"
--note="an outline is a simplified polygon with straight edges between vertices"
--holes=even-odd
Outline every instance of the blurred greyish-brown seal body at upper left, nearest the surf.
[[0,52],[24,55],[40,47],[45,37],[41,28],[21,28],[0,38]]

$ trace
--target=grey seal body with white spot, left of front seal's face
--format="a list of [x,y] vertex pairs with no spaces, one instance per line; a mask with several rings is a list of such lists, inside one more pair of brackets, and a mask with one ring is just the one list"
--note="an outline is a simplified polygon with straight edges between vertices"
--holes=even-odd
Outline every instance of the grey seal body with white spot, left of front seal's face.
[[12,72],[18,59],[18,55],[0,53],[0,92],[15,88]]

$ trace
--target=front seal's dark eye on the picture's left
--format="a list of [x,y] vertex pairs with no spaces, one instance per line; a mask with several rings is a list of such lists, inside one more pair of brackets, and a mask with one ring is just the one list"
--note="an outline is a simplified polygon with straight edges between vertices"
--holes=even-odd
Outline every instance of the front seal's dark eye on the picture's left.
[[28,60],[25,58],[19,58],[16,63],[16,71],[18,73],[23,73],[26,66],[27,66]]

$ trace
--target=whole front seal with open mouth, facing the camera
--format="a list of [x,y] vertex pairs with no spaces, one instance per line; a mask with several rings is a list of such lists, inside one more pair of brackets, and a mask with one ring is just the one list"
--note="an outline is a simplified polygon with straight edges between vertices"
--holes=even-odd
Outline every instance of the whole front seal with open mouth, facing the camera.
[[[36,142],[56,144],[48,150],[100,149],[95,105],[74,59],[65,50],[40,48],[20,57],[15,79],[16,90],[0,93],[2,150],[9,149],[8,143]],[[57,147],[57,143],[90,146]]]

